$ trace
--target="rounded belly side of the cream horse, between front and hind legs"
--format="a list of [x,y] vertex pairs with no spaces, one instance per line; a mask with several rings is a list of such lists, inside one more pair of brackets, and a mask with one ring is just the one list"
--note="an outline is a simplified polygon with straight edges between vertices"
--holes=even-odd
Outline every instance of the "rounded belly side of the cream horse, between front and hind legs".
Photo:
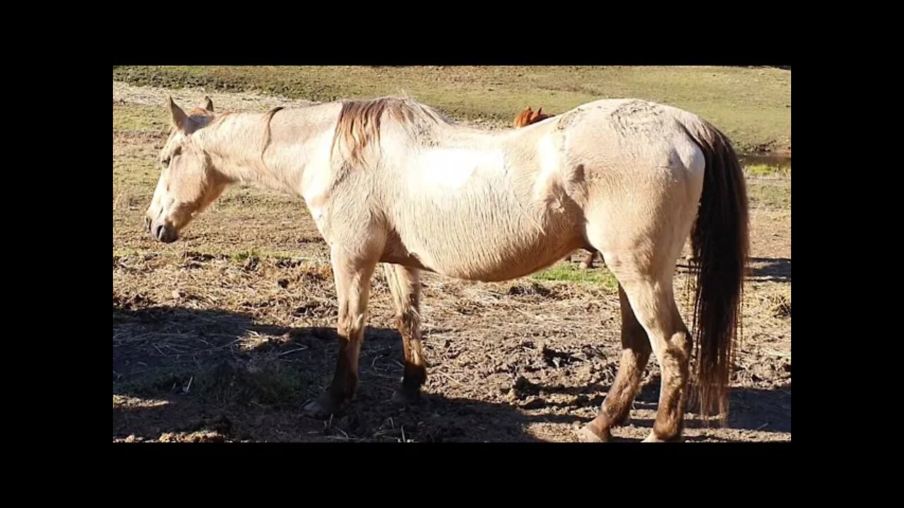
[[404,199],[392,203],[394,250],[409,266],[499,281],[550,266],[583,245],[579,212],[562,204],[554,181],[545,184],[551,178],[515,178],[513,166],[491,165],[490,155],[464,161],[471,165],[459,160],[464,155],[443,155],[457,164],[419,172]]

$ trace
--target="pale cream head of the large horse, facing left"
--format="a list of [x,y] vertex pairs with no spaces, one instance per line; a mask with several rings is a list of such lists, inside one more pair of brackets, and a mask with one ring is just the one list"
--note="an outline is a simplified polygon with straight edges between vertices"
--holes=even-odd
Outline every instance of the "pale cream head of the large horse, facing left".
[[213,118],[213,103],[205,98],[200,108],[188,114],[169,99],[173,128],[160,151],[163,170],[154,199],[147,207],[145,227],[155,240],[175,241],[179,231],[194,215],[213,202],[226,187],[227,180],[211,164],[211,158],[199,146],[196,132]]

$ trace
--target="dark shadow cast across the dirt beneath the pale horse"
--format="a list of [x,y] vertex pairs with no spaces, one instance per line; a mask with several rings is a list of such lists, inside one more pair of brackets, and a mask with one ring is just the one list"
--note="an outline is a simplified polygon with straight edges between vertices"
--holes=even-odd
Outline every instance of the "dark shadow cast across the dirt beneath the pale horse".
[[[369,328],[361,383],[353,405],[334,419],[301,415],[334,370],[335,329],[259,325],[250,315],[183,307],[113,307],[113,436],[137,440],[267,441],[540,441],[532,423],[572,424],[569,415],[525,414],[512,403],[430,393],[402,408],[391,403],[401,376],[401,340],[394,329]],[[544,390],[555,391],[555,387]],[[575,390],[575,389],[565,389]],[[583,389],[598,404],[607,387]],[[658,382],[638,403],[655,404]],[[761,406],[778,395],[740,390]],[[732,428],[790,431],[735,417]],[[783,422],[784,420],[779,420]],[[652,426],[652,422],[635,421]],[[770,427],[771,425],[771,427]],[[691,427],[691,425],[689,425]]]

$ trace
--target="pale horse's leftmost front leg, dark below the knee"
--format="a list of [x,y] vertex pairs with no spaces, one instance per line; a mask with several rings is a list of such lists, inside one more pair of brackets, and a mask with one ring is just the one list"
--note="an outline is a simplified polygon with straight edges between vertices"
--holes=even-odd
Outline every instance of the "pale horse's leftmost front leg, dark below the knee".
[[358,388],[358,356],[367,325],[367,302],[371,290],[371,277],[376,268],[375,260],[365,260],[349,255],[348,251],[334,247],[331,252],[336,296],[339,303],[339,356],[333,382],[317,400],[306,404],[304,411],[314,418],[327,418],[348,406]]

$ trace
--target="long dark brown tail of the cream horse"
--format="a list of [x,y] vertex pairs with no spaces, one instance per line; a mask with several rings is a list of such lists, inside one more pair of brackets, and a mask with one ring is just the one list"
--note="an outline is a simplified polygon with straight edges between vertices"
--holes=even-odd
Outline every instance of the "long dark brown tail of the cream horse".
[[686,126],[689,134],[706,159],[700,208],[691,233],[696,259],[693,384],[701,415],[709,416],[717,403],[724,423],[749,252],[747,185],[728,137],[704,120],[688,123],[693,124]]

